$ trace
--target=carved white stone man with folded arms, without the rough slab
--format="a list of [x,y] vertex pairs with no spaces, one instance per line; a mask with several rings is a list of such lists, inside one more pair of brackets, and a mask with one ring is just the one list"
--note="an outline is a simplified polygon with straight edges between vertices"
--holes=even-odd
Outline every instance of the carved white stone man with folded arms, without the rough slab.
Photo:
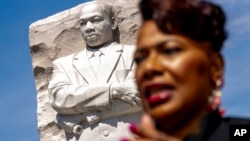
[[53,61],[49,99],[68,140],[116,141],[131,136],[141,100],[134,83],[134,47],[114,41],[111,6],[88,2],[79,15],[83,50]]

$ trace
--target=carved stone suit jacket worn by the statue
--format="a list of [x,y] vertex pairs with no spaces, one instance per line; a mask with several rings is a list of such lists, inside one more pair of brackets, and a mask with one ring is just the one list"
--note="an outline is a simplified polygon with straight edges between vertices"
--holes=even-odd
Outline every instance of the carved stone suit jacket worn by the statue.
[[128,123],[139,122],[141,105],[111,98],[111,93],[114,87],[120,87],[122,94],[139,96],[133,71],[134,47],[116,43],[107,47],[97,76],[86,50],[53,62],[49,83],[52,107],[61,120],[66,120],[62,123],[70,121],[68,125],[83,126],[83,132],[77,137],[79,140],[115,141],[124,135],[131,136],[127,131]]

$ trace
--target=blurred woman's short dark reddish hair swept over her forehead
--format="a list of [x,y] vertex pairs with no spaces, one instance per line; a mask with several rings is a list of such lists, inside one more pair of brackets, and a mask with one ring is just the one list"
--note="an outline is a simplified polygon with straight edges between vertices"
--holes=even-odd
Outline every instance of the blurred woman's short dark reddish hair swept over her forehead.
[[142,0],[143,20],[154,20],[159,29],[197,41],[209,41],[220,51],[227,37],[226,17],[220,6],[202,0]]

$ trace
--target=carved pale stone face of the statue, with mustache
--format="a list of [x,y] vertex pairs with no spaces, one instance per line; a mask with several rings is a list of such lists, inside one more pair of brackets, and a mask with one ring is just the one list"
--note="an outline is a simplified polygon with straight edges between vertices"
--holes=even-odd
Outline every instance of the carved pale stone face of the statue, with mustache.
[[99,47],[113,40],[110,19],[98,3],[91,3],[82,8],[79,22],[83,38],[88,46]]

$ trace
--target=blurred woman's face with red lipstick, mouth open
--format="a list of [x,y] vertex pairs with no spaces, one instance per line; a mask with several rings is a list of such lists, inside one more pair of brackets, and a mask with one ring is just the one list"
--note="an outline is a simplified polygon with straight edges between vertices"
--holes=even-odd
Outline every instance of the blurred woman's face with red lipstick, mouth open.
[[136,81],[145,110],[155,119],[181,119],[204,111],[212,91],[213,52],[177,34],[143,23],[137,40]]

